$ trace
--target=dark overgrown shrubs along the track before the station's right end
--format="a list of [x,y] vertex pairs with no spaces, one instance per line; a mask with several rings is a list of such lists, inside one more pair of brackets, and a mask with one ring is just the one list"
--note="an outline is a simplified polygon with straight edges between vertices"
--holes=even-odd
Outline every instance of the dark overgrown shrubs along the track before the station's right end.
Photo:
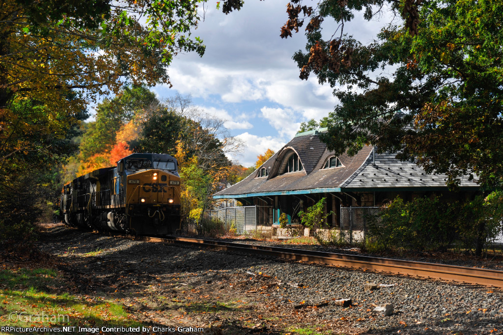
[[476,255],[501,231],[503,196],[493,192],[468,202],[442,202],[438,196],[404,202],[397,197],[370,220],[367,249],[444,251],[455,243]]

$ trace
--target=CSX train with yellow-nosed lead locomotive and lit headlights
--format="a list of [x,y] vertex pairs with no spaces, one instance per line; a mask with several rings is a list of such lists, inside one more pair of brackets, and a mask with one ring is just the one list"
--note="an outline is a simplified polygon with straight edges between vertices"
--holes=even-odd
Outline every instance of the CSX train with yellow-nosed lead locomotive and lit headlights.
[[166,235],[180,229],[177,160],[132,154],[116,167],[98,169],[63,186],[60,214],[80,229]]

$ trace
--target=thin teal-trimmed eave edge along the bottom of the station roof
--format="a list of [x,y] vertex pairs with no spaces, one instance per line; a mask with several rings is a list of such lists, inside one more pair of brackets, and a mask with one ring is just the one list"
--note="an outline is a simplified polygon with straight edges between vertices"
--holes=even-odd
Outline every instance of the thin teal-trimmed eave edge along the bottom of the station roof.
[[[477,191],[480,190],[479,186],[461,186],[459,190],[463,191]],[[294,194],[312,194],[312,193],[330,193],[330,192],[399,192],[399,191],[449,191],[447,186],[424,186],[424,187],[368,187],[368,188],[354,188],[354,187],[325,187],[325,188],[311,188],[311,189],[296,189],[290,191],[270,191],[270,192],[257,192],[257,193],[243,193],[243,194],[222,194],[213,195],[214,199],[230,199],[230,198],[246,198],[253,196],[267,196],[267,195],[294,195]]]

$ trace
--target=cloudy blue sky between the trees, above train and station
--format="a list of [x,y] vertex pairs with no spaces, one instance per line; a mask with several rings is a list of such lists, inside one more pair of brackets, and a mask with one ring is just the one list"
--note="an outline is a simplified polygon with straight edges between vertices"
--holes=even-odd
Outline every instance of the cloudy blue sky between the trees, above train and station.
[[[176,91],[190,94],[201,109],[225,119],[231,135],[246,144],[241,155],[231,157],[244,166],[255,164],[257,155],[268,148],[279,150],[295,135],[300,122],[319,120],[338,103],[332,89],[319,85],[315,76],[299,79],[292,55],[304,50],[306,39],[301,32],[280,38],[286,4],[250,0],[241,11],[229,15],[210,4],[204,22],[194,32],[206,45],[204,56],[178,55],[169,70],[173,88],[153,88],[159,98]],[[325,23],[325,30],[331,35],[330,24]],[[381,26],[357,18],[345,31],[365,43]]]

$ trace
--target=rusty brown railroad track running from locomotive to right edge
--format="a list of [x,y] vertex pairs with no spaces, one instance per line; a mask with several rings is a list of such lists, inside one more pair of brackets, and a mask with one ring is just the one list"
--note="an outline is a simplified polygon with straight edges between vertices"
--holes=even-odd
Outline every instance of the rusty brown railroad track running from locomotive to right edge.
[[309,261],[321,264],[339,265],[361,270],[386,272],[398,275],[409,275],[423,278],[440,279],[482,286],[495,286],[503,288],[503,271],[480,269],[457,265],[379,258],[344,253],[312,251],[294,248],[281,248],[262,245],[250,245],[223,241],[203,240],[185,237],[149,237],[113,234],[125,236],[135,240],[162,242],[172,244],[185,244],[216,250],[244,252],[257,255],[275,256],[296,261]]

